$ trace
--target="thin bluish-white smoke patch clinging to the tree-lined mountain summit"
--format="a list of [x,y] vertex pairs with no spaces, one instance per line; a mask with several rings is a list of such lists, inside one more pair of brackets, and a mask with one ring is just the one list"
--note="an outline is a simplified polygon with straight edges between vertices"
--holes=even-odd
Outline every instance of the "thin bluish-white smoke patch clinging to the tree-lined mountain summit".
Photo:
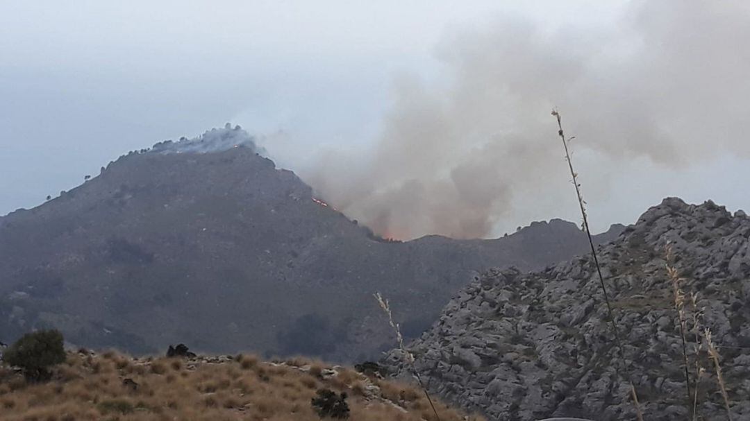
[[151,148],[154,154],[205,154],[208,152],[226,151],[230,148],[251,148],[259,151],[255,139],[242,127],[232,127],[227,123],[223,129],[211,129],[193,139],[181,138],[177,142],[167,140],[159,142]]

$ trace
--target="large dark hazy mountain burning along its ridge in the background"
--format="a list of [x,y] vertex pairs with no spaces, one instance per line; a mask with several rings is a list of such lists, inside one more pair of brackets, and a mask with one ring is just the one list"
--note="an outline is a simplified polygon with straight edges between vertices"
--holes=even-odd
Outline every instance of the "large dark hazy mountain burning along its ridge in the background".
[[496,240],[385,240],[276,169],[244,130],[211,130],[131,152],[1,217],[0,340],[55,327],[76,345],[135,354],[186,342],[362,360],[393,343],[375,291],[413,338],[478,271],[544,267],[586,247],[559,219]]

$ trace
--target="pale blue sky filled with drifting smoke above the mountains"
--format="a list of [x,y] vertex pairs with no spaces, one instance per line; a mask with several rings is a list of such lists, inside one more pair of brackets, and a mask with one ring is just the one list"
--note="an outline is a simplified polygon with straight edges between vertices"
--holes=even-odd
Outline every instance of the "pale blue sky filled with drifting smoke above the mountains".
[[[0,215],[240,124],[392,237],[750,208],[740,1],[0,0]],[[747,71],[745,71],[747,70]]]

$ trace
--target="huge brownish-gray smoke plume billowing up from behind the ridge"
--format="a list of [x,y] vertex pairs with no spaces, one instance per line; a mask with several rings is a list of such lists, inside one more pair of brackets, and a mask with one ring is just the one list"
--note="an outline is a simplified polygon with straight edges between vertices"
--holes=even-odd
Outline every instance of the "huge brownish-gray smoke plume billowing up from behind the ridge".
[[303,175],[385,236],[484,237],[524,206],[570,199],[555,106],[580,166],[599,172],[584,182],[638,158],[748,157],[748,40],[741,1],[637,2],[605,30],[468,28],[437,50],[449,84],[399,79],[375,147],[325,151]]

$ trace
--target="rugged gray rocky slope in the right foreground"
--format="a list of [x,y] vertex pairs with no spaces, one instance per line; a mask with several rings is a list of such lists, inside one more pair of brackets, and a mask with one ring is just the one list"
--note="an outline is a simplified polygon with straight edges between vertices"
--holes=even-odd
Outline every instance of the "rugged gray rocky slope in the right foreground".
[[[623,344],[618,357],[601,286],[589,257],[546,269],[488,270],[460,291],[410,345],[432,393],[493,420],[581,417],[634,420],[629,381],[646,420],[688,414],[679,323],[665,270],[673,245],[683,289],[695,291],[703,327],[719,347],[734,420],[750,419],[750,219],[706,202],[665,199],[598,249]],[[690,306],[687,309],[691,318]],[[694,333],[688,324],[688,358]],[[705,348],[698,411],[725,420]],[[383,363],[408,378],[399,351]],[[619,374],[618,374],[619,372]],[[694,370],[691,369],[691,382]]]

